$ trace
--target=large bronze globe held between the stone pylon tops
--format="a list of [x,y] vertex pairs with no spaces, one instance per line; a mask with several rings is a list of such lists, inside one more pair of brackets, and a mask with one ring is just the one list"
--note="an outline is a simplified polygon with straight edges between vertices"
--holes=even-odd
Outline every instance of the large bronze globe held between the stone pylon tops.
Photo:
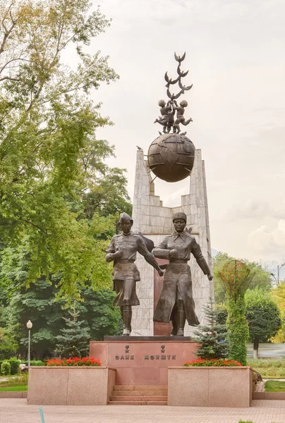
[[150,170],[166,182],[177,182],[190,175],[195,157],[195,146],[185,135],[162,134],[148,150]]

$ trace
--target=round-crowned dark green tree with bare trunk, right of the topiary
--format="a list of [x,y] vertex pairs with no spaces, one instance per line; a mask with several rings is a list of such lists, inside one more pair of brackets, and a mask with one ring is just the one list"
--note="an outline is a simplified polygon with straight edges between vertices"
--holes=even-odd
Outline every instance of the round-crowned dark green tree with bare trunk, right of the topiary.
[[276,335],[281,325],[279,309],[272,294],[259,287],[247,290],[245,317],[248,320],[250,341],[253,342],[253,357],[258,358],[259,343]]

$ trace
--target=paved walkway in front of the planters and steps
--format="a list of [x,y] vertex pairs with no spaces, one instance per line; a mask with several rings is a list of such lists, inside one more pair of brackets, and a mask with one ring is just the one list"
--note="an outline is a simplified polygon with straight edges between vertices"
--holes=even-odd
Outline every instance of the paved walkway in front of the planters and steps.
[[[43,405],[44,423],[285,423],[285,400],[254,400],[250,408]],[[41,423],[39,407],[0,399],[1,423]]]

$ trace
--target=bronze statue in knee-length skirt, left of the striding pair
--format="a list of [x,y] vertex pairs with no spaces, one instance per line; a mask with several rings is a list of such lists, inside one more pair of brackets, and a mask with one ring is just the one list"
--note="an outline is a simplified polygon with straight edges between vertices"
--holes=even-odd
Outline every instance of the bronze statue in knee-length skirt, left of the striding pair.
[[139,252],[147,263],[157,269],[159,275],[163,271],[155,261],[153,255],[147,250],[147,246],[139,233],[131,231],[133,219],[126,213],[120,215],[119,224],[122,232],[111,239],[107,247],[106,261],[114,261],[113,289],[116,291],[114,305],[121,307],[123,319],[123,335],[131,333],[132,306],[140,305],[135,292],[135,283],[140,281],[140,272],[135,266],[136,253]]

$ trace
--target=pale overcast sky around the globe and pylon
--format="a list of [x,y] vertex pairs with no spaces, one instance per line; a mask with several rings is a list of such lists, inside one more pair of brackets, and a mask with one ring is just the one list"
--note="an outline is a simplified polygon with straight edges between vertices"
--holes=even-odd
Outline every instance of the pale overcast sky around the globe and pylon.
[[[93,2],[94,4],[95,1]],[[158,135],[164,73],[186,51],[193,89],[187,135],[202,149],[212,247],[235,257],[285,261],[284,0],[102,0],[111,27],[92,43],[120,80],[94,93],[114,126],[98,136],[116,146],[133,198],[136,145]],[[188,179],[156,180],[165,206],[179,205]],[[273,265],[274,267],[274,265]],[[272,268],[273,269],[273,268]],[[285,266],[284,266],[285,269]],[[284,272],[285,275],[285,272]],[[283,277],[283,275],[282,275]]]

